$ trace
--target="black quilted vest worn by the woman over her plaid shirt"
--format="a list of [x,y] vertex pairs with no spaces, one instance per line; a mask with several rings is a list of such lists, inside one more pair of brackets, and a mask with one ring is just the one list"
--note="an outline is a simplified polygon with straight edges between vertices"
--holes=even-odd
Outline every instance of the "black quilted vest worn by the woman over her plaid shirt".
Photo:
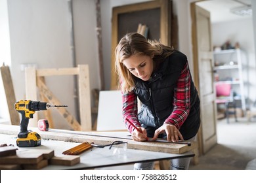
[[[134,92],[142,103],[139,122],[146,128],[148,137],[154,136],[154,131],[163,125],[173,111],[174,88],[186,62],[186,56],[175,51],[160,64],[158,71],[152,73],[150,81],[135,78]],[[200,99],[191,78],[190,114],[180,129],[184,140],[194,137],[199,127]]]

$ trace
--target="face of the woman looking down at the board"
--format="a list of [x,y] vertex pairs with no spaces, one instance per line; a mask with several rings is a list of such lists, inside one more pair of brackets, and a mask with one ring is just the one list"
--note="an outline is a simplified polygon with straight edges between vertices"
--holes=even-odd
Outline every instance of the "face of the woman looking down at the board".
[[137,78],[147,81],[154,69],[152,58],[150,56],[133,55],[124,59],[123,64]]

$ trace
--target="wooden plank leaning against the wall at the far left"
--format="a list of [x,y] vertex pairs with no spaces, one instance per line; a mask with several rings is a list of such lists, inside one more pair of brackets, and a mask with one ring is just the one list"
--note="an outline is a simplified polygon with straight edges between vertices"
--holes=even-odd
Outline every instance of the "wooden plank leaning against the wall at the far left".
[[18,112],[14,109],[13,105],[16,103],[16,97],[14,93],[14,88],[12,84],[12,77],[9,66],[0,67],[1,76],[3,80],[3,88],[5,89],[5,96],[7,99],[7,105],[10,114],[10,120],[12,125],[20,124],[20,116]]

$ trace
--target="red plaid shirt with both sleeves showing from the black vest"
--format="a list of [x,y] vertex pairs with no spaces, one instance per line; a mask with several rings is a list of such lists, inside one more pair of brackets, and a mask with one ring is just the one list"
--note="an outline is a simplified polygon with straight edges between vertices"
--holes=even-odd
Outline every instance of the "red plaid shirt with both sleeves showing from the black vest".
[[[177,80],[177,86],[173,96],[173,112],[165,120],[166,124],[175,125],[178,129],[188,117],[190,111],[190,72],[188,63],[184,65],[181,76]],[[140,126],[137,114],[137,95],[133,91],[121,92],[123,100],[123,118],[128,118],[136,126]],[[125,120],[125,125],[130,133],[133,132],[134,127]]]

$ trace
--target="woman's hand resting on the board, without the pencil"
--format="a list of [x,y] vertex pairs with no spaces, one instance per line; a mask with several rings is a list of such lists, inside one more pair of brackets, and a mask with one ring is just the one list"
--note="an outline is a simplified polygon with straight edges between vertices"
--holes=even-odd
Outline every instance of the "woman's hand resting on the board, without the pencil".
[[177,127],[175,127],[175,125],[163,124],[161,127],[156,129],[152,141],[156,141],[156,139],[158,139],[158,135],[162,133],[166,133],[167,141],[177,142],[179,141],[179,139],[183,140],[181,132],[179,131],[179,129],[177,129]]

